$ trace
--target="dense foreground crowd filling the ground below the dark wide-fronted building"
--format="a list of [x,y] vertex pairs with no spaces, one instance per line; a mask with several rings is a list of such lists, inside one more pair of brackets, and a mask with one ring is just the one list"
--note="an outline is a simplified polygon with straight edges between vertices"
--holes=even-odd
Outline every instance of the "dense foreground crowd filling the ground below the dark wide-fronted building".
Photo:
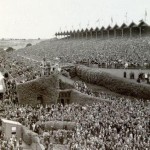
[[[3,117],[19,121],[38,133],[45,147],[67,144],[71,150],[148,150],[150,148],[150,101],[116,99],[92,105],[15,105]],[[39,122],[73,121],[72,131],[46,131]],[[51,144],[50,144],[51,143]]]

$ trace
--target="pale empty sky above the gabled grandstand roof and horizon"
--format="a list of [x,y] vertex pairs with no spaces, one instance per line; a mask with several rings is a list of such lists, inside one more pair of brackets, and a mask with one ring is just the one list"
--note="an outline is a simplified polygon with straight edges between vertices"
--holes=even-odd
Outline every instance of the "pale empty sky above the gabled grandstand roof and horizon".
[[145,12],[150,25],[150,0],[0,0],[0,38],[49,39],[64,30],[138,23]]

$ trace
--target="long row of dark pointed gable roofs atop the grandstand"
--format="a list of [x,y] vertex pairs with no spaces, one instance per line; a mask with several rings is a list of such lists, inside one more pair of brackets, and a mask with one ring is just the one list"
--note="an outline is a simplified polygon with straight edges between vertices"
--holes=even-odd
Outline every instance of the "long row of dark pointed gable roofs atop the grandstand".
[[55,34],[56,37],[68,39],[81,39],[81,38],[110,38],[110,37],[142,37],[150,35],[150,26],[140,21],[139,24],[131,22],[129,25],[123,23],[121,26],[117,24],[114,27],[108,25],[108,27],[102,26],[101,28],[96,27],[95,29],[86,28],[77,31],[64,31]]

